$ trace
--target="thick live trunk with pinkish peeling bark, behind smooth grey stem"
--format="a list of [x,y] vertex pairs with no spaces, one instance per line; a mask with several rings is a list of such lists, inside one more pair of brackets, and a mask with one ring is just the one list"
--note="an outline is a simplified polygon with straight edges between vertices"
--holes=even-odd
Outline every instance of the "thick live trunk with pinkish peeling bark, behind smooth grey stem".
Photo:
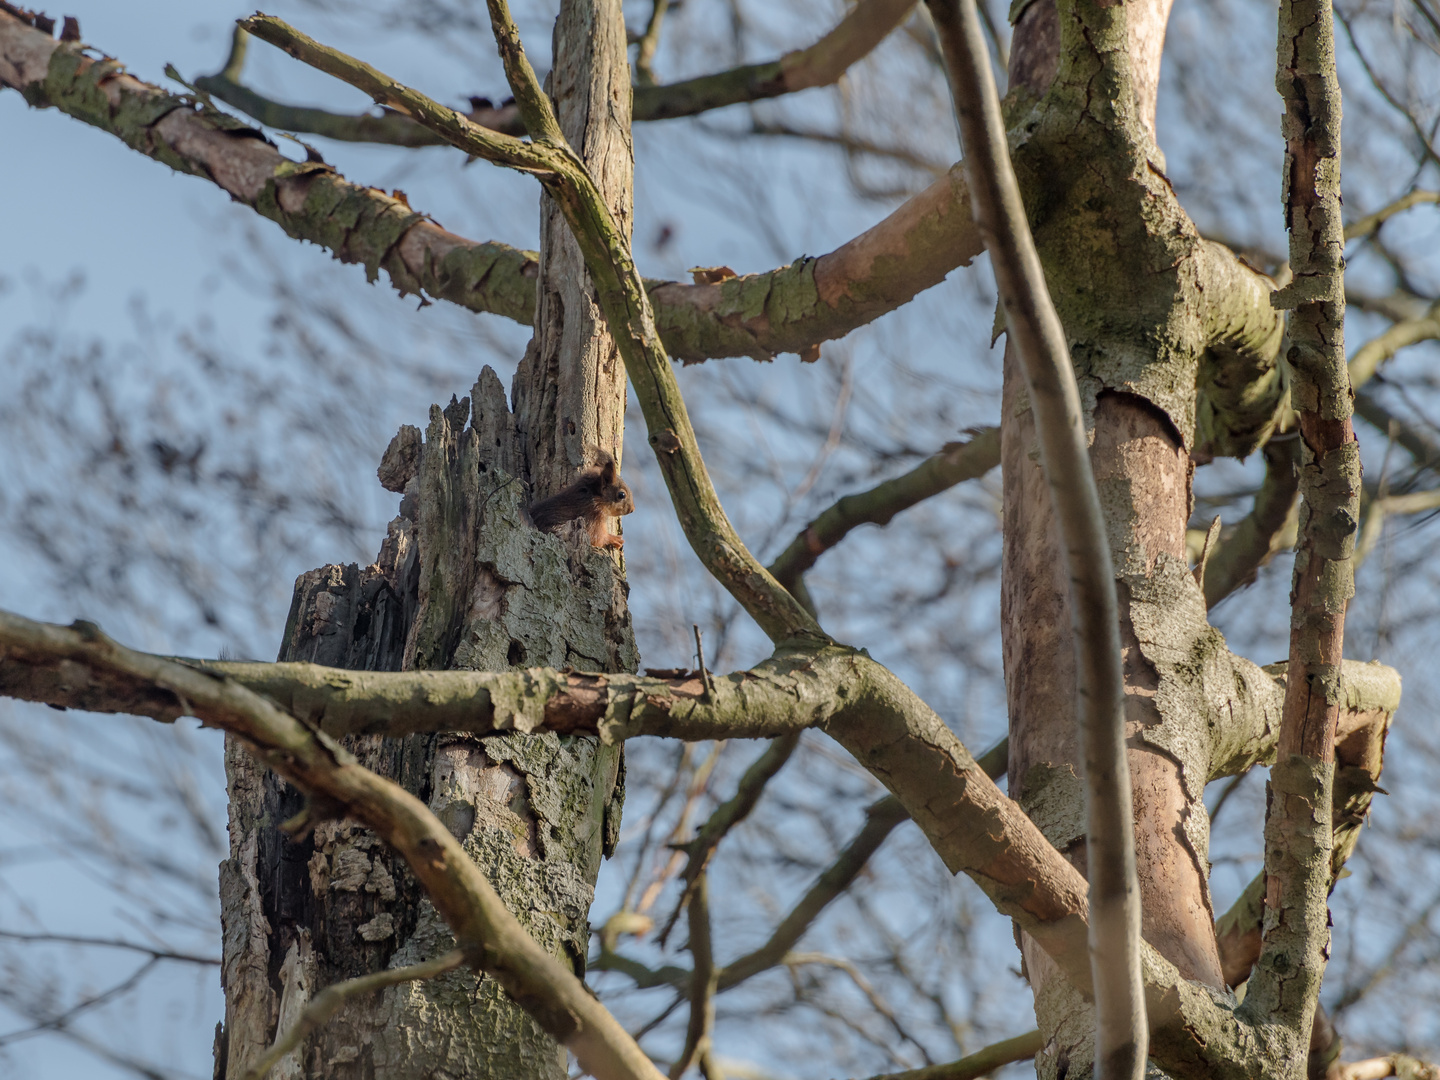
[[[1259,730],[1273,737],[1280,701],[1274,684],[1208,626],[1185,562],[1185,526],[1192,454],[1253,446],[1273,426],[1279,324],[1256,302],[1267,302],[1259,275],[1198,238],[1164,177],[1153,118],[1168,7],[1037,0],[1022,9],[1011,115],[1038,104],[1018,122],[1014,156],[1090,415],[1120,583],[1142,933],[1181,976],[1223,989],[1201,795],[1238,743]],[[1096,108],[1096,98],[1104,105]],[[1217,295],[1246,302],[1228,311],[1212,304],[1207,287],[1218,281],[1225,287]],[[1202,367],[1215,343],[1224,348]],[[1260,387],[1253,400],[1237,400],[1241,383]],[[1008,351],[1001,438],[1011,792],[1083,867],[1068,588]],[[1047,1035],[1040,1076],[1089,1076],[1092,1007],[1032,942],[1022,950]]]

